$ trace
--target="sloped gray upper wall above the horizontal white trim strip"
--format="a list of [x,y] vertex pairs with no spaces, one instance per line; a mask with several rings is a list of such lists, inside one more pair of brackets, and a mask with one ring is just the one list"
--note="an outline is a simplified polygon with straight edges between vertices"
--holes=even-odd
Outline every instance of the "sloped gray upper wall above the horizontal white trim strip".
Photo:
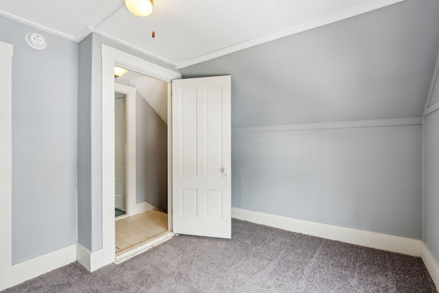
[[232,75],[233,127],[418,117],[438,15],[437,0],[407,0],[180,72]]

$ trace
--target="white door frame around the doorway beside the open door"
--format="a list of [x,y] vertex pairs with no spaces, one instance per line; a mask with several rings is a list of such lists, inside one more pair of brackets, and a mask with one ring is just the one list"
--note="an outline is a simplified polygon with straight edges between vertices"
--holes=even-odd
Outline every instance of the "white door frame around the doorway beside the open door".
[[[115,80],[114,66],[161,79],[168,83],[167,101],[167,184],[168,230],[172,231],[172,119],[171,81],[181,74],[102,44],[102,250],[91,257],[91,268],[115,261]],[[94,264],[93,264],[94,263]]]

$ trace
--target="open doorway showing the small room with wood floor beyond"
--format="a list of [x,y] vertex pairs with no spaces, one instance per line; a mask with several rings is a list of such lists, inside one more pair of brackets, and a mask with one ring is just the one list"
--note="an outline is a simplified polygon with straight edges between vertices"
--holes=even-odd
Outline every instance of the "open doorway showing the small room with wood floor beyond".
[[[130,93],[126,93],[130,91]],[[127,71],[115,78],[115,256],[132,255],[168,232],[165,81]],[[132,107],[128,109],[128,102]],[[133,106],[134,105],[134,106]],[[129,120],[132,120],[130,123]],[[128,149],[128,133],[135,138]],[[128,157],[135,173],[126,172]],[[126,196],[127,179],[135,190]],[[128,206],[130,209],[128,210]]]

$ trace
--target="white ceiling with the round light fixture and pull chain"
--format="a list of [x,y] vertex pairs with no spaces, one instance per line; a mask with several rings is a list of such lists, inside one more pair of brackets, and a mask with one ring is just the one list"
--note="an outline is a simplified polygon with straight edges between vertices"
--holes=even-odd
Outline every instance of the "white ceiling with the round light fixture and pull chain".
[[403,0],[154,0],[152,16],[123,0],[0,1],[0,14],[79,42],[96,32],[177,68],[350,18]]

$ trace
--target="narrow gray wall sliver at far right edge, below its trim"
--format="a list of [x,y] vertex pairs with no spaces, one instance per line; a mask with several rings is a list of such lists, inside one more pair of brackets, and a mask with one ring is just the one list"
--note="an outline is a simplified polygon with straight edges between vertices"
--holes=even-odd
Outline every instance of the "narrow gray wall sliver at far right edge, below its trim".
[[439,111],[425,118],[424,242],[439,261]]

